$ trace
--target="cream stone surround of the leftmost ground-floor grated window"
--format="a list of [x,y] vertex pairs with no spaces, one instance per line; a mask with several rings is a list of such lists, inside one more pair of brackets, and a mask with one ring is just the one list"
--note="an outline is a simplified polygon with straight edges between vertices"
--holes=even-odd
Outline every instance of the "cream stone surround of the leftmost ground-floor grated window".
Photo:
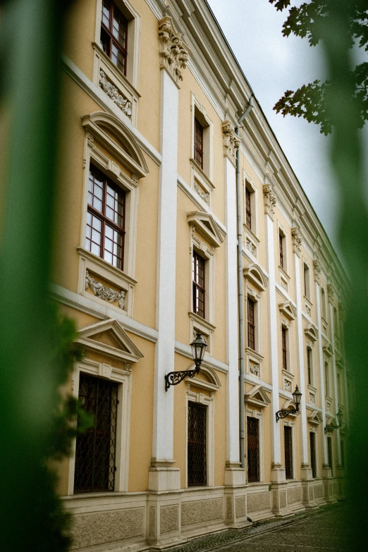
[[[101,379],[114,381],[118,385],[118,415],[116,417],[116,474],[114,491],[106,493],[128,492],[129,477],[129,440],[130,440],[130,403],[132,390],[131,364],[125,363],[125,370],[118,369],[104,364],[85,359],[76,362],[72,375],[72,394],[78,399],[80,372],[97,376]],[[74,438],[71,455],[68,465],[68,496],[74,495],[74,472],[75,472],[75,445]],[[104,495],[105,493],[99,493]],[[83,496],[88,496],[84,493]]]

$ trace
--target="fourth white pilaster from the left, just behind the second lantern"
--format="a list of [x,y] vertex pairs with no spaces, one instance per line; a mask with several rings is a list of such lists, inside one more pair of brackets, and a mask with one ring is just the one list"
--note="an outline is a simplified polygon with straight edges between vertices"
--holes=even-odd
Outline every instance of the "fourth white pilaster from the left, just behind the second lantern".
[[[297,343],[298,343],[298,364],[299,364],[299,389],[302,393],[300,400],[300,436],[301,436],[301,461],[302,468],[309,467],[308,460],[308,441],[307,441],[307,409],[305,406],[307,399],[307,390],[305,388],[305,373],[304,373],[304,339],[302,326],[302,292],[300,282],[300,258],[298,253],[293,253],[294,271],[295,271],[295,299],[298,309],[297,313]],[[302,472],[303,475],[303,472]]]

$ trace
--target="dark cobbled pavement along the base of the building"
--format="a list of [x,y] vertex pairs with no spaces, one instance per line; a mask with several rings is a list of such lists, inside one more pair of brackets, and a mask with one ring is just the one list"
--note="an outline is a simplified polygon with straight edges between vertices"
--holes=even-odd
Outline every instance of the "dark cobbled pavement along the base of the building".
[[348,552],[350,532],[346,508],[340,503],[201,536],[169,552]]

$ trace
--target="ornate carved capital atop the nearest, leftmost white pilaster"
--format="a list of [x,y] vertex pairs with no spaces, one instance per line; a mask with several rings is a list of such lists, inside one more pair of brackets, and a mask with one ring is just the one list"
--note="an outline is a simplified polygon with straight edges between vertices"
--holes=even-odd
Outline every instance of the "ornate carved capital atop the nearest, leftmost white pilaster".
[[175,32],[171,17],[159,21],[159,54],[160,68],[166,69],[178,84],[183,80],[182,72],[187,66],[189,49],[182,35]]

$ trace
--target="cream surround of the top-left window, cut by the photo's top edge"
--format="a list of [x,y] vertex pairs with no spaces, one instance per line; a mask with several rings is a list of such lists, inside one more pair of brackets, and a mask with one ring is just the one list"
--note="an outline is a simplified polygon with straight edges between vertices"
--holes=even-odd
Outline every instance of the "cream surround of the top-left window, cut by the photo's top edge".
[[[118,92],[132,104],[132,114],[128,118],[132,121],[133,125],[136,126],[137,106],[138,99],[140,98],[140,94],[137,92],[137,87],[139,79],[141,21],[139,14],[135,11],[135,8],[133,8],[128,0],[114,0],[114,3],[123,13],[123,16],[128,19],[127,75],[125,77],[125,75],[118,70],[109,56],[106,56],[100,47],[102,0],[97,0],[96,25],[94,30],[94,42],[92,43],[94,56],[93,82],[94,85],[100,87],[100,71],[103,70],[109,82],[111,82],[111,84],[118,89]],[[107,94],[106,103],[113,103],[113,99],[110,99]],[[123,111],[121,111],[121,116],[122,118],[126,116]]]

